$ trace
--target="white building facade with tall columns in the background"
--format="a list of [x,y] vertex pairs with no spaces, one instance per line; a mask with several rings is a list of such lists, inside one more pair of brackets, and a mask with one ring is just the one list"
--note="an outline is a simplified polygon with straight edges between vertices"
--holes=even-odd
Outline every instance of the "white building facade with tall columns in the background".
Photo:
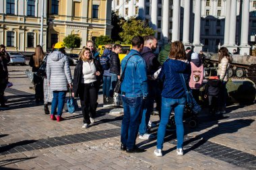
[[255,0],[113,0],[112,9],[125,19],[148,19],[159,44],[181,40],[196,52],[226,46],[240,54],[255,44]]

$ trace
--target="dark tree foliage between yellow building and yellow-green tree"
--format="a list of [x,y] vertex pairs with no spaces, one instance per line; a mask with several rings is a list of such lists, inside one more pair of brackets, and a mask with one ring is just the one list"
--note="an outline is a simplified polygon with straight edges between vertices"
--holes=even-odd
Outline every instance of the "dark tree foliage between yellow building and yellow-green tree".
[[125,18],[119,17],[119,15],[117,15],[117,13],[112,11],[111,25],[113,26],[113,28],[111,30],[111,39],[113,40],[113,42],[121,42],[122,41],[121,37],[119,36],[119,33],[123,32],[123,29],[120,26],[121,20],[125,20]]

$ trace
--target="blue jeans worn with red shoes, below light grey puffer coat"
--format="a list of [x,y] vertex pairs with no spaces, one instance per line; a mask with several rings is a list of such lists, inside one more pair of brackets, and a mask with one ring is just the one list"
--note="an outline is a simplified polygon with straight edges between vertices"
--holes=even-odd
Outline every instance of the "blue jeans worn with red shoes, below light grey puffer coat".
[[66,93],[67,91],[53,91],[51,114],[54,114],[58,107],[57,115],[58,116],[62,115],[62,110],[65,104]]

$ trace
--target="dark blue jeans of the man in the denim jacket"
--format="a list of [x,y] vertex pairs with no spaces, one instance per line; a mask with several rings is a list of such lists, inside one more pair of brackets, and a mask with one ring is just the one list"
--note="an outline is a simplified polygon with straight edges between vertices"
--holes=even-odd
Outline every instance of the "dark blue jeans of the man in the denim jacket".
[[141,121],[142,97],[124,97],[124,116],[121,126],[121,143],[127,148],[134,148],[139,123]]

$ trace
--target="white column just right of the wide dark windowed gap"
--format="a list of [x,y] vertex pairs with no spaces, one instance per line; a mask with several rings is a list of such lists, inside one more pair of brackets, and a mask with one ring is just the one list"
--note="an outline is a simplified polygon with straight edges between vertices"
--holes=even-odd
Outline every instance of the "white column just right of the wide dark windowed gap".
[[231,0],[226,0],[224,46],[227,46],[229,44],[230,8],[231,8]]

